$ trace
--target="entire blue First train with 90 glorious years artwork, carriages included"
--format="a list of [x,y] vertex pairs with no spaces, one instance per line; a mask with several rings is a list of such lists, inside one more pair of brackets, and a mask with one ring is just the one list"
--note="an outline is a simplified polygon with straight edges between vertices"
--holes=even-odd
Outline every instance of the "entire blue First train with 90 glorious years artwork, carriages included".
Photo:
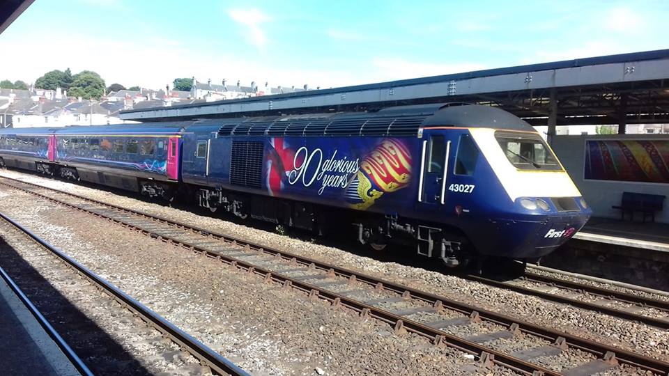
[[0,164],[406,244],[449,266],[545,256],[591,214],[532,126],[473,104],[5,129]]

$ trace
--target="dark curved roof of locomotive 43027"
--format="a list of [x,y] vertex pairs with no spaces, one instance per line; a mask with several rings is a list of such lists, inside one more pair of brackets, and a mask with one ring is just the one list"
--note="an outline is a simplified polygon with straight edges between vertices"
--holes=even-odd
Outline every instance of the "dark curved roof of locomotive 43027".
[[199,120],[186,132],[217,132],[219,136],[416,136],[424,127],[534,130],[502,109],[458,103],[388,107],[376,112]]

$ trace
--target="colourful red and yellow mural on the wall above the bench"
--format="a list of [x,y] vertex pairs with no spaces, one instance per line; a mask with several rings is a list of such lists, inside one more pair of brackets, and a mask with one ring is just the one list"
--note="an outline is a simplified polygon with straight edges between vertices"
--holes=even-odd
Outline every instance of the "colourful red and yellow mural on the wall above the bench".
[[669,139],[587,140],[584,178],[669,184]]

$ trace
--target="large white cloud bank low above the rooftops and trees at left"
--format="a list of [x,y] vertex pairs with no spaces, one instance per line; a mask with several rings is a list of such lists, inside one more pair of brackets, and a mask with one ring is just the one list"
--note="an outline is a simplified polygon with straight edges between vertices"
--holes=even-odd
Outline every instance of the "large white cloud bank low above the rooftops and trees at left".
[[[269,82],[276,87],[329,88],[362,84],[368,79],[360,72],[328,70],[328,68],[277,68],[264,59],[239,56],[229,51],[198,50],[176,40],[157,36],[144,36],[132,40],[97,38],[75,33],[61,33],[62,40],[77,40],[76,45],[62,45],[43,38],[38,33],[22,34],[13,38],[3,36],[6,51],[13,51],[3,60],[4,75],[1,79],[22,79],[34,82],[45,72],[70,68],[72,73],[81,70],[98,72],[107,85],[139,85],[145,88],[171,86],[176,77],[195,76],[200,81],[212,79],[220,83],[241,80],[259,86]],[[30,48],[26,48],[30,45]]]

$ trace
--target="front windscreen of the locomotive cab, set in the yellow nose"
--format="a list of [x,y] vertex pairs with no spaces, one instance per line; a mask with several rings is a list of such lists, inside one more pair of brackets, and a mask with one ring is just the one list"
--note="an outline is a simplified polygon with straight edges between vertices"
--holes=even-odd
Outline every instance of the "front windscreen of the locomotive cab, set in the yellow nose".
[[539,134],[495,132],[509,162],[521,170],[562,170],[557,158]]

